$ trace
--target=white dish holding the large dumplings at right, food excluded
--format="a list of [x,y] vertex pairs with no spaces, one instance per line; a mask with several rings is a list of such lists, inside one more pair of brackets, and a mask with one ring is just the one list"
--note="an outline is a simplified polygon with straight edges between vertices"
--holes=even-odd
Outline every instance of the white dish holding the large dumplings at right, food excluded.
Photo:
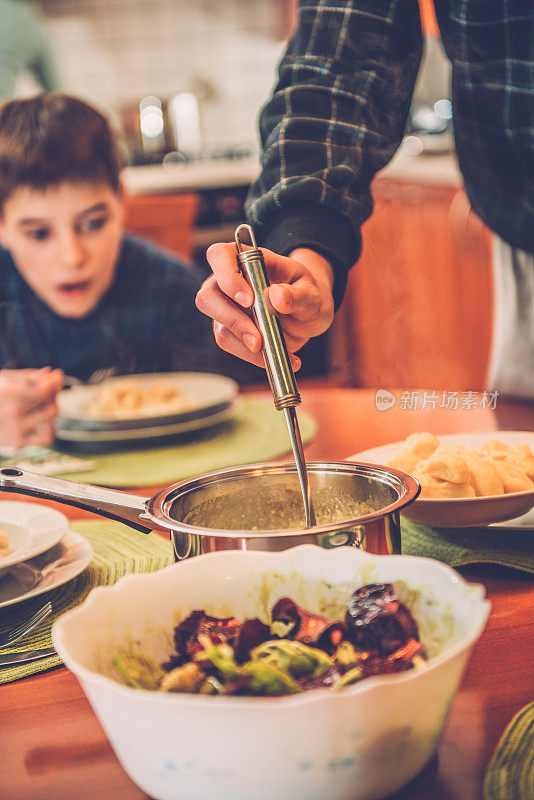
[[[437,434],[436,434],[437,435]],[[490,439],[498,439],[510,447],[528,444],[534,452],[534,433],[531,431],[477,431],[476,433],[451,433],[439,436],[440,441],[479,450]],[[401,442],[362,450],[348,461],[364,461],[385,465],[404,445]],[[418,499],[402,513],[423,525],[443,528],[479,527],[495,525],[507,529],[534,529],[534,490],[511,492],[493,497],[447,498],[444,500]]]

